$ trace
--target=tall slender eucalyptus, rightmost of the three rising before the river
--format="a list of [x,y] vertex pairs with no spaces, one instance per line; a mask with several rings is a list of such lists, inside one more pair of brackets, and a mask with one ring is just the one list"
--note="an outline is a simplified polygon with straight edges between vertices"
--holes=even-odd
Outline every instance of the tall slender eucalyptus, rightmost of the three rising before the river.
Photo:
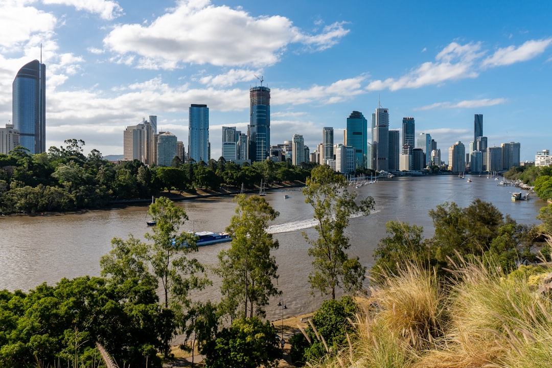
[[336,288],[346,292],[362,288],[366,267],[359,258],[350,258],[347,249],[351,247],[345,235],[349,218],[354,214],[367,216],[374,209],[374,199],[370,196],[357,201],[357,193],[347,190],[347,181],[343,175],[322,165],[312,169],[302,190],[305,202],[314,209],[317,238],[310,238],[308,254],[314,258],[309,274],[311,289],[322,295],[331,294],[336,298]]

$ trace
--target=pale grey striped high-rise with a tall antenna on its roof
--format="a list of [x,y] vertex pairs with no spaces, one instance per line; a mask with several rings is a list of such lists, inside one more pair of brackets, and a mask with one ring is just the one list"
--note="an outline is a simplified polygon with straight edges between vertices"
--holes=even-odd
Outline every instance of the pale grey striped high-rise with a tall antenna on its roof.
[[372,115],[374,170],[389,170],[389,110],[379,107]]

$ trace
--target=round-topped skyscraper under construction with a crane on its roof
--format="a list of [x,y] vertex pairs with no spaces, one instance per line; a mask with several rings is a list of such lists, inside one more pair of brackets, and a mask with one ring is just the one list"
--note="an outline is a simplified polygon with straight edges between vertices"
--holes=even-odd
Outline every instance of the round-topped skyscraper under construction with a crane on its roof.
[[270,156],[270,88],[252,87],[250,97],[250,124],[247,126],[249,159],[263,161]]

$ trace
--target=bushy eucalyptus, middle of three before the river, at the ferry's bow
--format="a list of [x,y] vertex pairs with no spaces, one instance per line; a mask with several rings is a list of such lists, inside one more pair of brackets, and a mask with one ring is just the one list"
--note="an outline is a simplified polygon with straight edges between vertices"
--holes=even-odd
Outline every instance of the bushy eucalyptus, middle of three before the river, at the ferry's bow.
[[[268,222],[279,216],[261,196],[236,196],[236,215],[226,231],[232,237],[230,249],[221,250],[216,273],[221,276],[221,307],[233,319],[264,317],[270,296],[278,295],[274,281],[278,265],[272,250],[278,241],[267,232]],[[238,312],[242,308],[243,313]]]

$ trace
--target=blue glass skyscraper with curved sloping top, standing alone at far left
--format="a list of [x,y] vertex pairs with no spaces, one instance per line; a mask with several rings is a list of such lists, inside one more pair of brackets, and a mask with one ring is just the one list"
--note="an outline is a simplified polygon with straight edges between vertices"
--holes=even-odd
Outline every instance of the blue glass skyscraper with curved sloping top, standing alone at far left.
[[35,154],[46,151],[46,65],[25,64],[12,84],[13,127],[19,144]]

